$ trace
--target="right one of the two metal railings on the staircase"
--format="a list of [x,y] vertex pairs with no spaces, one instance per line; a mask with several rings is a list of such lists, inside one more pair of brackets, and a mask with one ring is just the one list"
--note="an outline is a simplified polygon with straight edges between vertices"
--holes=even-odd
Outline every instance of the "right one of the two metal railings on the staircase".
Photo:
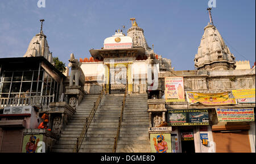
[[[127,78],[126,78],[127,79]],[[126,83],[125,86],[125,95],[123,95],[123,102],[122,102],[122,110],[121,110],[121,114],[119,117],[119,123],[118,123],[118,128],[117,128],[117,134],[114,137],[114,146],[113,146],[113,153],[116,152],[117,150],[117,141],[119,140],[119,133],[120,133],[120,129],[121,129],[121,124],[123,121],[123,110],[125,109],[125,100],[126,100],[126,95],[127,95],[127,91],[128,91],[128,84]]]

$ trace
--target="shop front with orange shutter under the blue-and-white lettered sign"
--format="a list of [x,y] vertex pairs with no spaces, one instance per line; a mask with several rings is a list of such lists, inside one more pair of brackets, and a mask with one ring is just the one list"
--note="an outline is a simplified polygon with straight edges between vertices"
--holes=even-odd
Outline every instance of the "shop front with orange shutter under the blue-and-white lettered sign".
[[[254,108],[216,108],[218,124],[212,125],[216,153],[251,153],[255,128]],[[255,140],[255,139],[254,139]]]

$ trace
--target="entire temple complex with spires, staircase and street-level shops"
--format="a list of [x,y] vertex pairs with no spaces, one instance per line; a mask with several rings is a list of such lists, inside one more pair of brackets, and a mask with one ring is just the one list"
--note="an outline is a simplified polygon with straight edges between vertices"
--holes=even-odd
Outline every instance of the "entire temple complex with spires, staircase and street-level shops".
[[0,152],[255,153],[255,66],[208,12],[194,70],[175,70],[130,18],[89,58],[70,54],[64,75],[40,20],[23,57],[0,58]]

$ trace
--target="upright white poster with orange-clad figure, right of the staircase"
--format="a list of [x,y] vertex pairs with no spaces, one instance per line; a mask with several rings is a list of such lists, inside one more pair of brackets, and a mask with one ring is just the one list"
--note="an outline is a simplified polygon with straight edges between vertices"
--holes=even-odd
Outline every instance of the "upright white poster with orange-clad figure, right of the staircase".
[[166,102],[185,102],[183,77],[166,77],[164,96]]

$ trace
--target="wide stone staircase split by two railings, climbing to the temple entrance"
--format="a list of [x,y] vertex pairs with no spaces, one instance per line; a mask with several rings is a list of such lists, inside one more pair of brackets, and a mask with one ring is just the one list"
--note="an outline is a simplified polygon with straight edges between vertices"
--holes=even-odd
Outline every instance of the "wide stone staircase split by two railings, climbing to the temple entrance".
[[[86,95],[72,120],[65,127],[52,152],[72,153],[76,137],[80,136],[85,118],[89,116],[98,95]],[[112,153],[117,133],[123,94],[104,95],[95,120],[82,142],[80,153]],[[117,152],[149,152],[147,96],[127,96]],[[141,142],[138,142],[141,141]],[[147,148],[146,150],[144,148]]]

